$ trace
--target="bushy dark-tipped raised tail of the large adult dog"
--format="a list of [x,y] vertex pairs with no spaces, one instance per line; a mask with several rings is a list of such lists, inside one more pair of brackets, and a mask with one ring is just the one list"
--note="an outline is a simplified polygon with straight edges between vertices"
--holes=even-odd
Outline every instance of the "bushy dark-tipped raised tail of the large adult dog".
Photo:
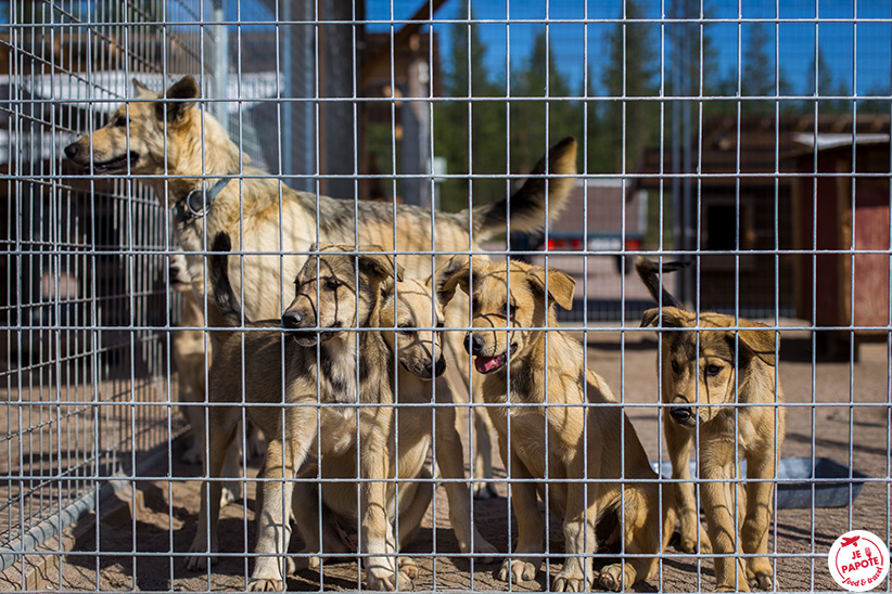
[[[486,241],[505,233],[509,219],[513,231],[532,233],[544,229],[546,205],[551,219],[560,214],[576,182],[575,178],[566,177],[576,175],[576,139],[566,137],[552,146],[530,175],[530,179],[510,198],[471,210],[476,241]],[[457,212],[456,217],[461,222],[467,221],[468,209]]]

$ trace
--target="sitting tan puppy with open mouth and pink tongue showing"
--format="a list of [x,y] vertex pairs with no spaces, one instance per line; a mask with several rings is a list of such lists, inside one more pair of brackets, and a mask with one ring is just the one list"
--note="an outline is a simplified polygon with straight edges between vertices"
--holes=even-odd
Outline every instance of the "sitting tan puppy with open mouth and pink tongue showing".
[[599,582],[620,590],[650,578],[675,524],[671,492],[663,493],[661,519],[657,474],[610,387],[585,367],[583,345],[559,330],[532,330],[558,327],[555,304],[572,307],[573,279],[519,261],[475,260],[444,289],[456,284],[472,293],[473,330],[466,347],[482,374],[475,377],[483,398],[509,403],[489,409],[502,459],[512,479],[527,480],[511,483],[518,545],[499,579],[532,580],[538,571],[545,534],[537,492],[563,522],[566,560],[552,590],[582,592],[591,585],[596,524],[620,512],[625,551],[653,556],[604,567]]

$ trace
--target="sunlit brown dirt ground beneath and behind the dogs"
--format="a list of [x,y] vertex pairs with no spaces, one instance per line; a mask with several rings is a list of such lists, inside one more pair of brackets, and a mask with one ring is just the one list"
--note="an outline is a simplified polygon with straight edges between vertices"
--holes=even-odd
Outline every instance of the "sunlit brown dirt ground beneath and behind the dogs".
[[[652,333],[590,331],[589,366],[602,374],[614,391],[627,402],[659,400]],[[803,331],[782,333],[779,373],[787,401],[785,456],[829,457],[880,481],[867,482],[854,505],[842,508],[780,509],[776,513],[769,550],[776,558],[779,591],[838,591],[827,569],[827,551],[833,540],[850,529],[866,529],[887,542],[890,527],[890,361],[887,345],[864,345],[859,362],[812,364],[812,341]],[[855,403],[855,405],[852,405]],[[665,460],[657,409],[629,408],[628,415],[651,460]],[[241,591],[253,561],[245,556],[254,541],[254,493],[227,506],[220,521],[220,560],[209,571],[187,571],[183,553],[196,530],[200,482],[181,480],[196,475],[196,466],[178,462],[176,444],[173,468],[155,467],[137,487],[141,491],[127,507],[106,516],[89,528],[50,576],[52,590],[71,591]],[[662,450],[662,451],[661,451]],[[467,456],[467,451],[466,451]],[[494,456],[498,461],[498,455]],[[251,472],[256,472],[252,466]],[[504,478],[498,463],[497,478]],[[148,477],[152,477],[151,479]],[[162,477],[162,478],[160,478]],[[511,513],[506,486],[501,496],[474,501],[474,520],[483,535],[500,552],[509,545]],[[129,490],[124,498],[132,496]],[[417,540],[406,554],[420,555],[416,590],[494,590],[508,585],[493,573],[498,564],[470,563],[457,555],[457,544],[448,528],[445,492],[437,489]],[[435,518],[435,519],[434,519]],[[552,534],[559,522],[550,519]],[[98,529],[97,529],[98,528]],[[512,533],[513,528],[512,528]],[[297,540],[296,538],[293,540]],[[300,543],[292,543],[296,550]],[[136,554],[133,553],[136,552]],[[432,552],[435,552],[432,554]],[[550,564],[553,574],[560,558]],[[539,591],[546,586],[546,571],[535,582],[512,586],[514,591]],[[355,590],[360,574],[352,560],[326,563],[323,571],[304,571],[290,577],[288,590]],[[660,576],[634,587],[635,591],[696,592],[713,587],[712,560],[697,559],[670,548]],[[0,583],[0,590],[17,590]]]

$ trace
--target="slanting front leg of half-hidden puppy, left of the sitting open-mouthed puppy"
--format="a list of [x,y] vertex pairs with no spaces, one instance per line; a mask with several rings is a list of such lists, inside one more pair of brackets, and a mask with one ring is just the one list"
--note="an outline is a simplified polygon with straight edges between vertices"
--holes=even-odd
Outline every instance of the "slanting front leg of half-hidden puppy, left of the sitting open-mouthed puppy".
[[[441,399],[441,391],[448,390],[445,382],[437,383],[437,400]],[[451,395],[444,398],[444,402],[453,402]],[[484,411],[480,411],[484,413]],[[456,412],[451,406],[437,408],[436,414],[436,463],[443,478],[464,479],[464,452],[461,447],[461,438],[456,429]],[[480,414],[480,413],[479,413]],[[458,540],[459,551],[470,553],[473,542],[474,553],[496,554],[496,547],[489,544],[486,539],[473,527],[471,516],[471,502],[469,501],[468,483],[449,481],[446,486],[446,499],[449,500],[449,522]],[[473,534],[473,539],[472,539]],[[489,559],[480,559],[487,563]]]

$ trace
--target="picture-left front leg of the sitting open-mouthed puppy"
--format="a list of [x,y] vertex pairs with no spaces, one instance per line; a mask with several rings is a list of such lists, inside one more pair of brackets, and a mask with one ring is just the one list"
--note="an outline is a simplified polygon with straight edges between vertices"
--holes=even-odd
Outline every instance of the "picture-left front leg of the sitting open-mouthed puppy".
[[[508,447],[501,434],[499,446],[502,452]],[[536,499],[536,486],[528,481],[533,478],[532,475],[520,457],[513,452],[510,455],[511,478],[527,480],[511,485],[511,506],[514,508],[514,517],[518,518],[518,546],[514,554],[501,564],[498,578],[504,582],[521,583],[524,580],[536,579],[545,544],[545,524]]]

